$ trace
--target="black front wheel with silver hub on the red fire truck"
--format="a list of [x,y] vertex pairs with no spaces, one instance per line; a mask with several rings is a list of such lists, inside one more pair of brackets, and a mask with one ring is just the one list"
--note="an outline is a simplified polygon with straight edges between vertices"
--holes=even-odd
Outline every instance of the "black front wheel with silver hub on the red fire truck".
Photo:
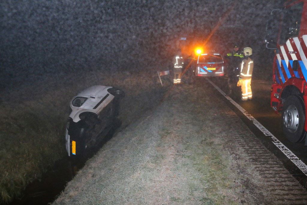
[[282,109],[282,130],[291,142],[299,142],[305,134],[305,106],[300,97],[291,95]]

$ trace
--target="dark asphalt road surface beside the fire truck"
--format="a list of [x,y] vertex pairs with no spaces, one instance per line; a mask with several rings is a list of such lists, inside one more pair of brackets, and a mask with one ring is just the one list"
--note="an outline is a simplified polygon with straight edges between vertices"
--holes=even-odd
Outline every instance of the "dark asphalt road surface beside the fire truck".
[[[204,78],[199,79],[203,81],[206,86],[211,86]],[[223,92],[228,92],[226,78],[210,78]],[[208,85],[207,85],[208,84]],[[292,143],[288,141],[283,135],[281,128],[281,115],[277,115],[270,107],[270,88],[273,83],[264,81],[252,81],[251,87],[253,92],[253,99],[251,101],[240,101],[240,90],[237,93],[231,94],[231,97],[236,103],[243,107],[249,114],[258,120],[267,130],[269,130],[279,141],[282,142],[287,148],[290,149],[300,160],[307,164],[307,146],[304,142]],[[217,91],[218,92],[218,91]],[[220,94],[222,97],[222,94]],[[307,176],[297,168],[273,143],[272,140],[265,136],[250,120],[244,116],[238,108],[232,105],[225,97],[225,103],[229,104],[241,119],[248,125],[254,134],[261,139],[264,146],[266,146],[279,160],[285,165],[290,173],[307,189]]]

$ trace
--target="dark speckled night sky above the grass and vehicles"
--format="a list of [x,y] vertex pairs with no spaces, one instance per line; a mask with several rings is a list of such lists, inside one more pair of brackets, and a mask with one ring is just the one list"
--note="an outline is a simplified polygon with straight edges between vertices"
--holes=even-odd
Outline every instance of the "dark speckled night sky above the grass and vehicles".
[[[223,14],[229,15],[207,47],[228,52],[234,44],[262,44],[266,19],[283,1],[46,1],[0,3],[0,88],[43,79],[46,74],[134,70],[170,59],[176,41],[203,42]],[[171,60],[170,60],[171,61]],[[256,61],[257,62],[257,61]],[[17,83],[19,82],[19,84]]]

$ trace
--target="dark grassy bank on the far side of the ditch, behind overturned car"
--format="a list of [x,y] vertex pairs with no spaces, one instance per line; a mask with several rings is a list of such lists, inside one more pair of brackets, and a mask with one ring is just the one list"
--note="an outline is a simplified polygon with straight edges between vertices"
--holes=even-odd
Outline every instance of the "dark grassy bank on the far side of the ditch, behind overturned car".
[[[64,126],[70,112],[69,101],[76,93],[91,85],[123,89],[126,97],[122,100],[119,116],[123,127],[155,106],[163,89],[157,82],[157,74],[148,70],[52,76],[3,91],[0,101],[0,201],[9,202],[18,197],[29,182],[39,179],[56,160],[66,155]],[[164,82],[168,86],[171,81]]]

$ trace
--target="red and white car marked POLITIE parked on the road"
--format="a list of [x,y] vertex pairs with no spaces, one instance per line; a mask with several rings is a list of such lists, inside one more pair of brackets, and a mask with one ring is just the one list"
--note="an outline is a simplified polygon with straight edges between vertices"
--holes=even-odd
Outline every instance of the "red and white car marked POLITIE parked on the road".
[[224,61],[219,53],[202,53],[197,58],[194,74],[202,77],[223,76]]

